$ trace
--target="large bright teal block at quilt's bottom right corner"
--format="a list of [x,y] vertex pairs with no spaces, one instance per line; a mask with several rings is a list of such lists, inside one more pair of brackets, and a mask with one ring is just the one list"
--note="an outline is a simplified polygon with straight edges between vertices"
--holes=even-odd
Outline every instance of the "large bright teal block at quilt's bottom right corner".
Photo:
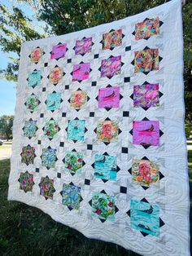
[[133,229],[151,236],[159,236],[159,205],[131,200],[130,218]]

